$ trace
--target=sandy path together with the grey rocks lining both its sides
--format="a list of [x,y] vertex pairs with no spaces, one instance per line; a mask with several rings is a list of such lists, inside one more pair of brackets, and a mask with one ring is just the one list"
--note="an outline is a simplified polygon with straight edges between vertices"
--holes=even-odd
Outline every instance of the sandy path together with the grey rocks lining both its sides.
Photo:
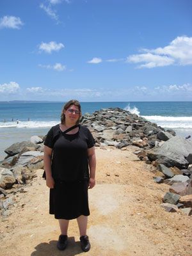
[[[89,190],[92,249],[86,255],[190,255],[191,140],[120,108],[86,113],[82,124],[92,131],[97,156],[97,185]],[[1,161],[2,256],[63,255],[42,179],[43,141],[35,136],[9,147],[10,157]],[[76,220],[68,237],[65,255],[82,253]]]

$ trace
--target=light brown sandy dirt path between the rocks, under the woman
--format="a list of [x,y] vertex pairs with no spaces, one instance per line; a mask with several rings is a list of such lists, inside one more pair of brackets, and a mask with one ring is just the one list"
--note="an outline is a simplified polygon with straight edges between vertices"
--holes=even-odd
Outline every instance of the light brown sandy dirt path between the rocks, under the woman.
[[49,215],[49,189],[43,170],[15,195],[12,214],[1,217],[1,256],[191,256],[192,218],[160,206],[168,191],[156,184],[153,167],[138,161],[138,148],[97,148],[97,185],[89,190],[88,236],[92,248],[81,251],[77,221],[70,221],[68,247],[56,248],[60,229]]

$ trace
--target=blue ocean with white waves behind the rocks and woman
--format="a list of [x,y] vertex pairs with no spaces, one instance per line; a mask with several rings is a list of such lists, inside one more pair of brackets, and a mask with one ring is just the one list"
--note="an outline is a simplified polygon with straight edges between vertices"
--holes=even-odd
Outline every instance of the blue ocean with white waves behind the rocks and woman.
[[[33,135],[47,134],[52,125],[60,122],[63,102],[1,103],[0,102],[0,159],[12,143],[29,140]],[[192,102],[82,102],[84,113],[102,108],[122,108],[143,116],[179,136],[192,137]]]

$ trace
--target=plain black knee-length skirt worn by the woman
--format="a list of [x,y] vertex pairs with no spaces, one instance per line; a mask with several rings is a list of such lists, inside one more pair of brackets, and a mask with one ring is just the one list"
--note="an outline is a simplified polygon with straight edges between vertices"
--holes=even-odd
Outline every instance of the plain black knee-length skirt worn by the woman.
[[50,189],[49,213],[56,219],[72,220],[90,215],[88,180],[77,182],[55,181]]

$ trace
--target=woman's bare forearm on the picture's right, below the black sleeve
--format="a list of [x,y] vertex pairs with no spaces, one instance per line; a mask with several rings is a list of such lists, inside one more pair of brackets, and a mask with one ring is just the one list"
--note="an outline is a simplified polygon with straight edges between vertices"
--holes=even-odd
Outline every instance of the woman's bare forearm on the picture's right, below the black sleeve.
[[88,163],[90,167],[89,188],[93,188],[95,186],[95,170],[96,170],[95,147],[88,148]]

